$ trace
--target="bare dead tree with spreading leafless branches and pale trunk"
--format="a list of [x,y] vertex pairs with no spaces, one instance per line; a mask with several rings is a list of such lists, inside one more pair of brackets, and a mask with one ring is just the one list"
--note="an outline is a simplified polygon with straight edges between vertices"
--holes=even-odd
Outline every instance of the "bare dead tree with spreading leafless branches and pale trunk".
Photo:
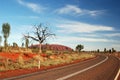
[[50,32],[48,27],[44,27],[42,24],[39,24],[38,26],[34,26],[33,31],[34,36],[31,35],[25,35],[26,38],[31,38],[34,41],[39,42],[39,53],[42,53],[41,45],[42,43],[52,36],[55,36],[52,32]]

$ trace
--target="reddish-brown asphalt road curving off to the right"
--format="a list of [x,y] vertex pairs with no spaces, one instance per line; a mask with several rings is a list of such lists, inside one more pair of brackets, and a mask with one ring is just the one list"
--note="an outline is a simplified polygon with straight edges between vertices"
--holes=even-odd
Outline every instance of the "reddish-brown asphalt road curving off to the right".
[[114,80],[119,67],[119,59],[99,56],[73,65],[4,80]]

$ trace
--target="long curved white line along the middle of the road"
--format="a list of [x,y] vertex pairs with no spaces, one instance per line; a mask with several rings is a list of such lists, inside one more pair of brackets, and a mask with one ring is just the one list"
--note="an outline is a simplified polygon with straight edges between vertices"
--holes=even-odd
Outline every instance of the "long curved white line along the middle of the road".
[[94,67],[96,67],[96,66],[104,63],[107,59],[108,59],[108,56],[107,56],[104,60],[102,60],[101,62],[99,62],[99,63],[97,63],[97,64],[95,64],[95,65],[92,65],[92,66],[90,66],[90,67],[88,67],[88,68],[85,68],[85,69],[83,69],[83,70],[80,70],[80,71],[78,71],[78,72],[69,74],[69,75],[67,75],[67,76],[58,78],[58,79],[56,79],[56,80],[65,80],[65,79],[67,79],[67,78],[70,78],[70,77],[75,76],[75,75],[77,75],[77,74],[80,74],[80,73],[82,73],[82,72],[85,72],[85,71],[87,71],[87,70],[89,70],[89,69],[91,69],[91,68],[94,68]]

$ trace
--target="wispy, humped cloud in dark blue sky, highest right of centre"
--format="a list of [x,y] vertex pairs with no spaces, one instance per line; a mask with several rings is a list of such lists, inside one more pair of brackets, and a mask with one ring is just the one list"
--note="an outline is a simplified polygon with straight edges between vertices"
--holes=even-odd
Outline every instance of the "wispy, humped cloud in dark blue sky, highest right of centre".
[[59,14],[73,14],[73,15],[90,15],[90,16],[97,16],[103,14],[104,10],[87,10],[81,9],[76,5],[66,5],[62,8],[56,10]]

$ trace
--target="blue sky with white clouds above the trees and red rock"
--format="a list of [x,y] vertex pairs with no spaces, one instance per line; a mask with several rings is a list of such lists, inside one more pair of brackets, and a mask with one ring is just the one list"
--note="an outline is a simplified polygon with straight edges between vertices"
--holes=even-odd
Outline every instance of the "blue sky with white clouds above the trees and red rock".
[[11,45],[13,42],[21,45],[23,34],[31,32],[33,25],[44,23],[56,34],[46,43],[73,49],[82,44],[84,50],[112,47],[120,50],[119,3],[119,0],[2,0],[0,25],[6,22],[11,25],[8,38]]

